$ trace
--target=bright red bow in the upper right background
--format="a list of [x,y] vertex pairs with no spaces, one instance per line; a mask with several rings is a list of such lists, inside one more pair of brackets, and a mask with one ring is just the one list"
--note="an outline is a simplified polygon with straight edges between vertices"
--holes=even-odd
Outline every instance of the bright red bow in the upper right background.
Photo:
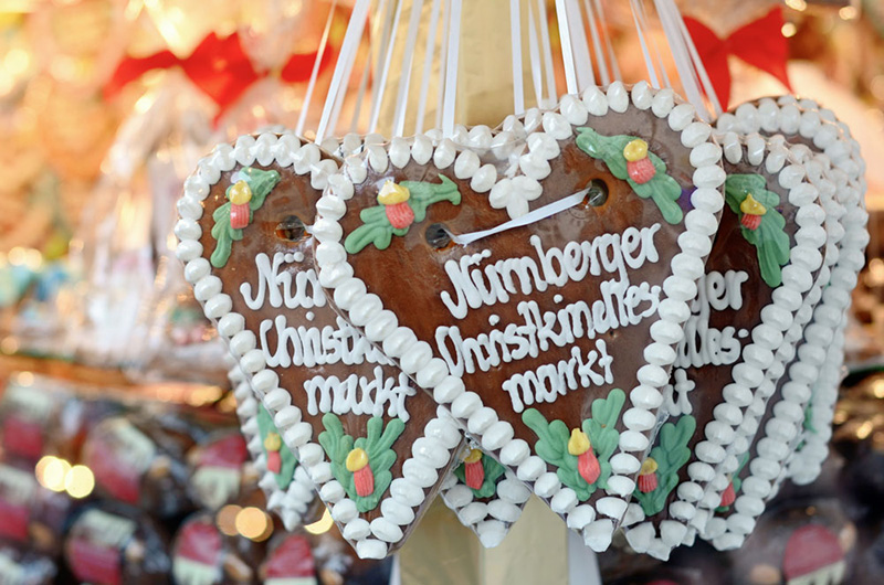
[[727,63],[729,55],[769,73],[791,92],[786,71],[789,43],[782,35],[782,10],[779,7],[760,19],[744,24],[725,39],[719,39],[698,20],[685,17],[684,23],[724,109],[727,109],[730,102],[730,68]]

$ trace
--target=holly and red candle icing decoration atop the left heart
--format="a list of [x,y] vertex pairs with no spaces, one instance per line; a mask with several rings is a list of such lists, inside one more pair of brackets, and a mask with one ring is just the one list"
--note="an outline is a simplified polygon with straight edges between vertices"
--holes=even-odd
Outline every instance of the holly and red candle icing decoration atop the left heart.
[[210,260],[215,268],[227,265],[233,242],[242,240],[243,228],[249,227],[254,220],[254,212],[280,182],[280,173],[245,167],[233,173],[231,180],[233,183],[224,194],[228,202],[212,213],[212,237],[218,245]]

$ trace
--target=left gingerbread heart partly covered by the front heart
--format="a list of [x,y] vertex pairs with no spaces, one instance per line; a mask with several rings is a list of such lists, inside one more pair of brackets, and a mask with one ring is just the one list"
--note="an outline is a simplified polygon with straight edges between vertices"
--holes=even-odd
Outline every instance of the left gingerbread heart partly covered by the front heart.
[[337,167],[292,135],[217,147],[186,182],[176,253],[345,539],[380,559],[420,519],[461,435],[319,287],[308,226]]

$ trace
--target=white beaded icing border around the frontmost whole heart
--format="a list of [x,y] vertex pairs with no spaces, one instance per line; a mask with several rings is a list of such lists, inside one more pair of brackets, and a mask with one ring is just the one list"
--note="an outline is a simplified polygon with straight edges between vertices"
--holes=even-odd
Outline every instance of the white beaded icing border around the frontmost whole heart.
[[[449,139],[435,145],[421,136],[410,140],[396,139],[390,143],[389,152],[380,146],[368,147],[364,157],[349,157],[345,161],[345,171],[329,182],[322,204],[317,205],[319,216],[313,231],[318,242],[315,258],[320,284],[333,291],[347,291],[335,297],[338,308],[347,315],[348,320],[358,321],[355,325],[365,329],[369,341],[382,345],[385,353],[399,361],[400,368],[419,386],[432,392],[436,403],[451,405],[452,414],[464,426],[469,426],[471,415],[488,416],[490,410],[483,408],[481,396],[467,391],[463,381],[450,373],[444,360],[434,357],[432,347],[417,340],[410,328],[400,327],[396,315],[385,309],[383,301],[377,295],[366,294],[365,285],[352,276],[352,266],[340,243],[344,234],[338,222],[346,213],[346,202],[352,198],[354,183],[365,180],[368,166],[383,172],[388,164],[401,168],[411,158],[421,164],[432,160],[440,169],[453,164],[455,177],[471,179],[473,191],[490,192],[493,208],[505,208],[511,216],[518,216],[526,213],[529,202],[539,196],[541,187],[538,178],[543,177],[539,177],[541,172],[537,168],[543,169],[547,160],[558,156],[557,140],[570,136],[575,125],[587,124],[589,115],[602,116],[609,107],[625,111],[630,99],[638,108],[650,109],[659,118],[666,119],[673,130],[681,132],[682,142],[692,149],[691,163],[696,169],[693,181],[697,189],[692,195],[694,209],[686,214],[685,232],[678,238],[681,253],[673,258],[672,275],[663,284],[667,299],[661,302],[660,319],[651,328],[652,343],[645,350],[650,360],[639,370],[640,385],[630,392],[632,408],[623,414],[627,430],[621,433],[619,453],[611,460],[617,475],[608,480],[607,493],[610,497],[600,498],[597,508],[578,504],[573,490],[562,488],[555,472],[544,474],[546,462],[530,455],[527,442],[514,438],[513,426],[499,421],[493,411],[490,421],[472,425],[485,429],[474,434],[482,448],[486,451],[499,449],[501,462],[516,468],[519,480],[533,483],[534,491],[549,500],[552,510],[565,517],[569,528],[582,533],[585,543],[594,551],[603,551],[610,545],[614,522],[622,518],[627,498],[634,489],[632,476],[638,472],[639,457],[644,455],[650,443],[645,433],[651,430],[656,419],[656,410],[663,403],[661,389],[669,382],[667,369],[675,359],[672,345],[684,334],[683,323],[690,315],[688,302],[696,292],[696,280],[702,276],[704,258],[712,248],[711,235],[718,225],[716,214],[724,205],[720,191],[725,181],[720,167],[722,150],[711,141],[712,128],[698,121],[692,106],[676,106],[671,89],[657,92],[643,82],[631,92],[620,82],[608,86],[607,93],[593,86],[583,93],[582,99],[565,96],[556,110],[543,115],[544,130],[528,136],[528,152],[522,155],[519,167],[524,170],[535,166],[533,177],[525,173],[498,181],[493,166],[480,167],[474,152],[463,150],[459,153],[454,142]],[[549,166],[545,168],[548,174]],[[357,313],[357,319],[354,319],[354,313]],[[597,518],[597,511],[600,518]]]

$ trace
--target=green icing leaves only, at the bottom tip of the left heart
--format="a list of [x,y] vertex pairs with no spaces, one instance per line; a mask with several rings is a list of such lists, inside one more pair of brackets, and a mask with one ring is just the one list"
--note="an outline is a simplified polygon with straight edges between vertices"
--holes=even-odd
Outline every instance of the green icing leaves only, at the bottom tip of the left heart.
[[[356,440],[344,433],[340,419],[333,413],[323,416],[323,425],[325,430],[319,433],[319,445],[332,461],[332,474],[344,486],[347,496],[356,502],[359,512],[373,510],[392,482],[390,468],[396,462],[392,445],[406,429],[406,423],[401,418],[393,418],[383,428],[383,418],[372,416],[366,425],[366,436]],[[347,470],[347,455],[355,448],[364,449],[368,455],[368,466],[375,476],[375,490],[370,496],[361,497],[356,492],[354,475]]]

